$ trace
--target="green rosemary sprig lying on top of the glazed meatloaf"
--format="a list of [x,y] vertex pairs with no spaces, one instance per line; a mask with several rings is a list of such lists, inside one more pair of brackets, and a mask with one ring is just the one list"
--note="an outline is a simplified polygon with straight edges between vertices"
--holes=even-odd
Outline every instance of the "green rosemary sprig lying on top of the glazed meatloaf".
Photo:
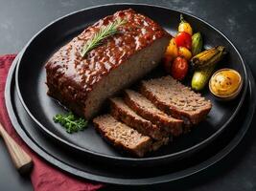
[[98,47],[102,40],[106,37],[115,34],[118,32],[118,27],[126,24],[127,21],[121,18],[118,18],[112,23],[109,23],[107,26],[102,27],[99,32],[96,32],[91,39],[89,39],[83,46],[81,51],[81,56],[83,57],[86,53],[90,52],[94,48]]

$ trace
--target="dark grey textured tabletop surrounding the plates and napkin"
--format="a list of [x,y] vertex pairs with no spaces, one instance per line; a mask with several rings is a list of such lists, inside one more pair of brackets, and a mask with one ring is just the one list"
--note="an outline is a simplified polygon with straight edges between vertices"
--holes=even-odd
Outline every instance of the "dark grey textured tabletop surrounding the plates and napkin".
[[[256,74],[256,1],[144,0],[144,1],[81,1],[81,0],[0,0],[0,54],[17,53],[45,25],[71,11],[119,2],[148,3],[187,11],[208,21],[237,46]],[[255,124],[255,117],[252,124]],[[256,190],[256,131],[250,131],[242,144],[218,165],[200,176],[176,184],[158,187],[161,190]],[[121,189],[117,187],[108,190]],[[32,190],[29,179],[14,170],[0,139],[0,190]]]

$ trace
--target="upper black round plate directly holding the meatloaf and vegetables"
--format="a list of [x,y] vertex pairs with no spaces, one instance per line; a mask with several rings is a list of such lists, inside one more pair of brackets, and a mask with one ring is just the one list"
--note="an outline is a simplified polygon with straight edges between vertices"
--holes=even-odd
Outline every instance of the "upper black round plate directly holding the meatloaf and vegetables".
[[58,102],[46,96],[45,62],[59,47],[80,33],[89,24],[94,23],[105,15],[128,8],[150,16],[167,31],[175,33],[181,12],[155,6],[107,5],[77,11],[64,16],[44,28],[41,32],[38,32],[25,47],[24,52],[21,53],[15,78],[20,100],[30,117],[35,120],[43,132],[60,141],[62,146],[69,146],[94,159],[104,160],[105,162],[119,162],[123,165],[156,165],[188,157],[221,134],[238,113],[247,90],[244,60],[234,45],[213,26],[188,13],[182,12],[192,24],[195,32],[199,31],[205,34],[205,47],[223,45],[227,48],[229,54],[220,65],[221,68],[233,68],[242,74],[244,89],[240,97],[234,101],[223,103],[217,101],[206,90],[204,96],[211,99],[213,103],[213,109],[206,120],[201,122],[192,133],[177,138],[173,144],[151,153],[144,159],[130,158],[116,151],[100,138],[94,131],[92,124],[83,133],[69,135],[58,124],[53,122],[52,118],[58,113],[63,113],[64,110],[58,105]]

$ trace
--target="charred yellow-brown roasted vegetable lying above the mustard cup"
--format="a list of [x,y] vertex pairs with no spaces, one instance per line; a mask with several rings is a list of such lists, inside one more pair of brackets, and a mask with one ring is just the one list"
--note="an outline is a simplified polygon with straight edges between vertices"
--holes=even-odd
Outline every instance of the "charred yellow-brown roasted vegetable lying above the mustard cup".
[[191,64],[196,69],[210,67],[219,62],[225,53],[224,47],[217,46],[195,55],[191,59]]

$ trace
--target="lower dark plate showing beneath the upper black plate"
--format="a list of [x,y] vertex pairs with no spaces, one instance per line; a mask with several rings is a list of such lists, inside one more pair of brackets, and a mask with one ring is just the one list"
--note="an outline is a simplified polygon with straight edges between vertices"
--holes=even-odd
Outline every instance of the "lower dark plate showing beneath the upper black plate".
[[207,148],[200,150],[193,158],[179,160],[175,164],[151,167],[150,171],[149,168],[138,167],[116,168],[113,166],[114,164],[105,166],[102,162],[94,162],[70,153],[63,147],[58,147],[51,139],[45,138],[44,134],[36,127],[35,121],[24,110],[17,96],[13,76],[15,61],[7,79],[5,97],[8,113],[16,132],[40,157],[61,170],[83,179],[123,185],[143,185],[175,181],[191,176],[215,164],[230,153],[244,138],[254,115],[255,84],[250,71],[248,71],[250,84],[239,112],[240,117],[236,117],[219,138],[209,144]]

